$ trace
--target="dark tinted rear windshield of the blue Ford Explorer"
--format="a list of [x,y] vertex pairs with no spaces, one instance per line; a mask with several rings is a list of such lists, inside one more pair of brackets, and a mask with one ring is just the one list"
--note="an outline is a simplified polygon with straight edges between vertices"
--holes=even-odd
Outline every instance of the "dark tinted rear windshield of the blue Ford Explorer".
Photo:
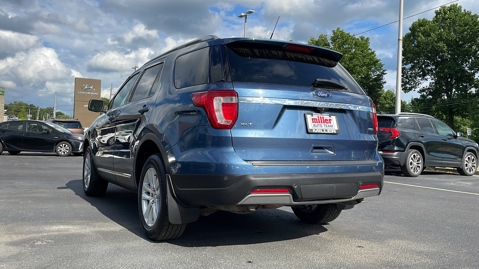
[[319,56],[278,50],[251,42],[229,43],[226,51],[233,82],[311,87],[319,78],[345,86],[348,88],[346,91],[365,95],[344,67]]

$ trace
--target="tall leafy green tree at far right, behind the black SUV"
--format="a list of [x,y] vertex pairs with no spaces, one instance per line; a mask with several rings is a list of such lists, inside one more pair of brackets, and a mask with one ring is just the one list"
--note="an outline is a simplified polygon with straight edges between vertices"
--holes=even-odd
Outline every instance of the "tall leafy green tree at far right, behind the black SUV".
[[[455,116],[469,117],[478,98],[479,16],[457,4],[435,11],[432,20],[413,22],[403,44],[404,92],[418,87],[416,107],[455,127]],[[429,81],[429,85],[421,87]]]

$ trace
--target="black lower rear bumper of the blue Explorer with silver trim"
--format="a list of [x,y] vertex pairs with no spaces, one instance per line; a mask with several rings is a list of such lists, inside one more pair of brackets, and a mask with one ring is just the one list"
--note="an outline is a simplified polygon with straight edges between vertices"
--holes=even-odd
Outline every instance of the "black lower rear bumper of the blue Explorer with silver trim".
[[[235,204],[319,204],[379,195],[384,172],[281,175],[169,175],[173,192],[186,206]],[[360,190],[362,185],[379,188]],[[251,194],[261,189],[289,193]]]

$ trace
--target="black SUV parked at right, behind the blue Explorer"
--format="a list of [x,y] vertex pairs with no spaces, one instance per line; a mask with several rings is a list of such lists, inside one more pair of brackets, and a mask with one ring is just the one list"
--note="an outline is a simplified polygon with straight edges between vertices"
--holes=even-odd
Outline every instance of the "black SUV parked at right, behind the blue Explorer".
[[377,115],[379,154],[387,167],[400,167],[417,177],[426,167],[457,168],[472,176],[478,167],[478,144],[454,132],[430,115],[399,113]]

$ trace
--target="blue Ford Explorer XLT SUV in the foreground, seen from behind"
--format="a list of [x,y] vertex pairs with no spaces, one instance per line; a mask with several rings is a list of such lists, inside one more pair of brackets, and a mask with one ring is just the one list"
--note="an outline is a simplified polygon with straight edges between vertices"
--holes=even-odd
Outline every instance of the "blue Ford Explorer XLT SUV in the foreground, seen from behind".
[[325,224],[375,196],[374,104],[338,52],[205,36],[137,69],[85,137],[83,188],[138,193],[146,235],[177,238],[216,211],[292,207]]

